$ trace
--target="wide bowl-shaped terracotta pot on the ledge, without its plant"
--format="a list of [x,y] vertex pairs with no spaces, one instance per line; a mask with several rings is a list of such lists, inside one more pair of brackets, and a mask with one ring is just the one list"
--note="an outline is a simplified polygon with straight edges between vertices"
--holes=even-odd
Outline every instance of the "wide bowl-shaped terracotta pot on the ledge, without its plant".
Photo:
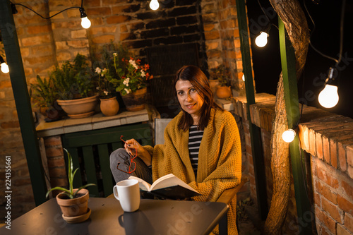
[[57,100],[58,104],[71,119],[92,116],[98,103],[98,95],[76,100]]

